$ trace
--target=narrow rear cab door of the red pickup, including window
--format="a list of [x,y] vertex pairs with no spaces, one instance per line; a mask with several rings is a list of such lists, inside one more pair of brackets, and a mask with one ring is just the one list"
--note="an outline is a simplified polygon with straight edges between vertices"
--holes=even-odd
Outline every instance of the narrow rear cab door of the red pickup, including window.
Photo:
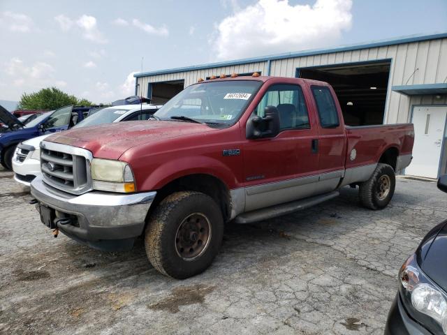
[[333,191],[344,177],[346,131],[332,87],[311,85],[310,90],[318,117],[318,189],[325,193]]

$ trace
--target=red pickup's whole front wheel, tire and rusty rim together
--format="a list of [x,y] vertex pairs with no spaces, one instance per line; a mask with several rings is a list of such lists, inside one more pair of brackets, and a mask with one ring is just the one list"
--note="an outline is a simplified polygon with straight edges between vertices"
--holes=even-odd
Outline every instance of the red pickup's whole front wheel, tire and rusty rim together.
[[166,276],[200,274],[219,253],[223,237],[221,210],[210,196],[185,191],[168,195],[149,217],[147,258]]

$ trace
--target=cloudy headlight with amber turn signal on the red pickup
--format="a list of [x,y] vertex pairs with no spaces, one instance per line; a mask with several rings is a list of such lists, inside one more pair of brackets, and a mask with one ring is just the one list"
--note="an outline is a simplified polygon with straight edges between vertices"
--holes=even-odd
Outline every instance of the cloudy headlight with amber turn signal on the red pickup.
[[135,192],[135,180],[129,164],[110,159],[93,158],[91,161],[93,188],[100,191]]

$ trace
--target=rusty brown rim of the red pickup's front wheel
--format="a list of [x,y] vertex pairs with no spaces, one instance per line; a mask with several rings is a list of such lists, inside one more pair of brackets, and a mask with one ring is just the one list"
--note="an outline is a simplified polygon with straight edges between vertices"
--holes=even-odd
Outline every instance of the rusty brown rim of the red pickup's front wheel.
[[210,244],[211,224],[202,213],[186,216],[175,234],[175,251],[184,260],[194,260],[202,255]]

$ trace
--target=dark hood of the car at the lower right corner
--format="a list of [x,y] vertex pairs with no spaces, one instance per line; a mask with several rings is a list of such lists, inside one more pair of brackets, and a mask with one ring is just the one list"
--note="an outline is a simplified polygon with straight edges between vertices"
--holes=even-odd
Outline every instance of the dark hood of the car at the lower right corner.
[[447,221],[425,235],[416,255],[420,269],[447,292]]

